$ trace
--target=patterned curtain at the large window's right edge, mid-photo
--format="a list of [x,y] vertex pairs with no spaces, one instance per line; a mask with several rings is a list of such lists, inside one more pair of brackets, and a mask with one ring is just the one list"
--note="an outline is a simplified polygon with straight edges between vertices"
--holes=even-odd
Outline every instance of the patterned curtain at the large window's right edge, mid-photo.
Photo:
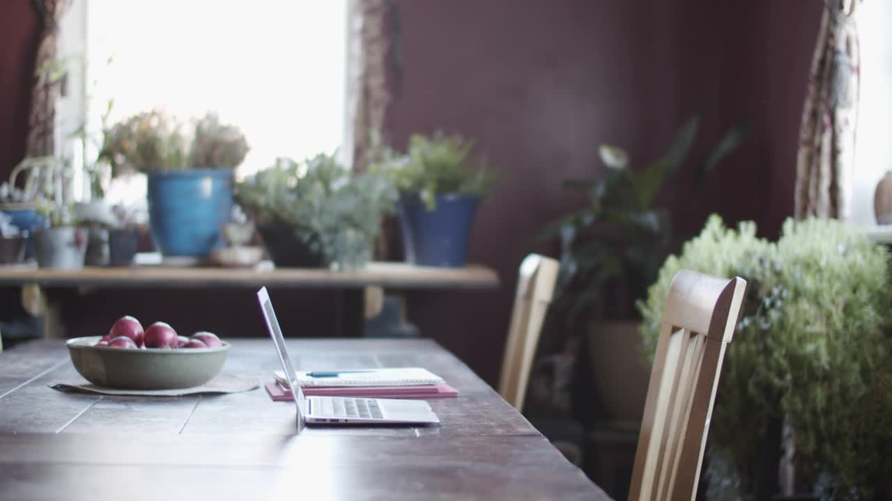
[[350,4],[348,106],[353,168],[360,172],[368,168],[377,147],[389,144],[384,119],[392,100],[387,72],[394,8],[389,0],[351,0]]

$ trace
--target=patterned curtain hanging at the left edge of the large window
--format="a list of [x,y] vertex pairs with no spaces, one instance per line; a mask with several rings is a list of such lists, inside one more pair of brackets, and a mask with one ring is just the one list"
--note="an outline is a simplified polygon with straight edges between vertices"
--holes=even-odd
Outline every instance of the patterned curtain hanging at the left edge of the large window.
[[56,38],[59,21],[68,3],[68,0],[34,0],[43,29],[37,45],[34,83],[31,86],[26,157],[53,155],[55,152],[55,103],[62,82],[56,68]]

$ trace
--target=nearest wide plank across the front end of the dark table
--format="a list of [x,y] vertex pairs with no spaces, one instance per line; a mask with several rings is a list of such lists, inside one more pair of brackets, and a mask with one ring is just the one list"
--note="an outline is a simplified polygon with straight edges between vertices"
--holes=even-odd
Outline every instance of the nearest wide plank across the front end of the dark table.
[[[420,447],[424,454],[418,454]],[[80,472],[105,479],[105,484],[140,483],[144,487],[137,495],[146,498],[166,497],[170,484],[183,482],[145,485],[140,474],[199,479],[197,485],[188,484],[199,490],[184,492],[180,485],[172,493],[175,498],[184,493],[202,498],[250,493],[252,499],[276,499],[312,493],[344,499],[607,499],[540,437],[493,437],[485,443],[475,437],[393,438],[383,443],[376,437],[353,435],[26,434],[0,435],[0,448],[4,450],[0,485],[6,475],[15,475],[18,485],[13,487],[20,490],[10,493],[17,498],[48,493],[41,490],[42,482],[58,486],[50,493],[61,492],[75,481],[68,475]],[[220,485],[231,489],[216,490]],[[240,490],[244,485],[253,487]],[[94,485],[92,480],[70,486],[72,492],[102,494],[103,489],[104,484]]]

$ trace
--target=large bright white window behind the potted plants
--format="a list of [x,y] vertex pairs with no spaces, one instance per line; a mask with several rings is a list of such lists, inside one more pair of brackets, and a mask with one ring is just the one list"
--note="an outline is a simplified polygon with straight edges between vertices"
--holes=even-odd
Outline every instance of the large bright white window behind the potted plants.
[[[251,146],[237,177],[279,156],[333,152],[344,135],[346,39],[346,0],[75,0],[61,52],[83,53],[86,72],[73,78],[83,85],[72,103],[60,103],[63,128],[86,122],[92,150],[109,103],[110,124],[156,107],[182,119],[217,111]],[[145,188],[131,180],[125,191]]]

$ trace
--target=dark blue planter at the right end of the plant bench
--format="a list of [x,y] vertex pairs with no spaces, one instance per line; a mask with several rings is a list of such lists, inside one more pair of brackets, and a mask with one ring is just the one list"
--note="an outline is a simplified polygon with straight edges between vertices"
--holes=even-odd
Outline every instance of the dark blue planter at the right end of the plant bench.
[[401,195],[397,209],[406,260],[429,267],[465,266],[479,201],[476,195],[437,195],[436,207],[428,210],[417,195]]

